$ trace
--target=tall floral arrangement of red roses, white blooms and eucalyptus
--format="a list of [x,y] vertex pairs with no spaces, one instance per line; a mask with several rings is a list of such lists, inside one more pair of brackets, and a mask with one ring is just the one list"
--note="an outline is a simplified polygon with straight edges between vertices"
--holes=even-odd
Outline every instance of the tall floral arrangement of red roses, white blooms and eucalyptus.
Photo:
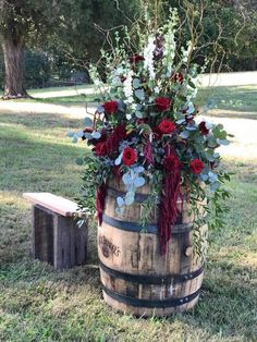
[[179,197],[186,194],[195,213],[197,203],[206,197],[206,210],[210,210],[212,198],[218,215],[219,198],[228,196],[220,185],[229,176],[217,169],[220,155],[216,151],[229,144],[228,135],[221,124],[197,118],[208,109],[194,101],[201,69],[191,63],[192,42],[178,45],[178,22],[172,10],[167,24],[140,37],[137,53],[127,54],[125,42],[117,36],[117,47],[110,53],[102,51],[106,83],[97,68],[90,68],[102,94],[94,119],[85,120],[84,131],[70,134],[74,142],[82,137],[91,146],[84,179],[86,187],[90,181],[96,186],[99,224],[109,179],[118,178],[126,187],[125,196],[117,198],[117,215],[134,203],[137,188],[151,186],[151,196],[143,204],[142,225],[158,204],[161,254],[179,213]]

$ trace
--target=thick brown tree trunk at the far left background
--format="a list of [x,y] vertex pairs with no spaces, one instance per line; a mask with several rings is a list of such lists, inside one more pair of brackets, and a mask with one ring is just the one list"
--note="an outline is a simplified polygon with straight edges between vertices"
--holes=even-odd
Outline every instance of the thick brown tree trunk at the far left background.
[[5,81],[3,99],[28,97],[23,77],[23,38],[15,39],[12,35],[2,37]]

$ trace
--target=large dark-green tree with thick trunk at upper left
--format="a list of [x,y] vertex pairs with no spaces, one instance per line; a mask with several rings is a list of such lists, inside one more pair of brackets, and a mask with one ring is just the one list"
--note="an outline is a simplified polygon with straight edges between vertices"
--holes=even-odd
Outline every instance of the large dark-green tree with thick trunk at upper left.
[[[4,98],[27,97],[23,75],[24,49],[41,47],[64,63],[97,58],[103,37],[96,25],[127,24],[136,1],[0,0],[0,39],[4,56]],[[126,15],[122,15],[126,13]],[[82,63],[81,63],[82,64]]]

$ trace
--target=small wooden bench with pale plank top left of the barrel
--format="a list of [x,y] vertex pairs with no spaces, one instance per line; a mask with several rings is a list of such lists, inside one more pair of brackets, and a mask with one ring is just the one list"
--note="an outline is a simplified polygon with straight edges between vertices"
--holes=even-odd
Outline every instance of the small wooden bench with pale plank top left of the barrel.
[[77,227],[77,205],[50,193],[25,193],[33,204],[32,254],[41,261],[64,269],[86,262],[87,224]]

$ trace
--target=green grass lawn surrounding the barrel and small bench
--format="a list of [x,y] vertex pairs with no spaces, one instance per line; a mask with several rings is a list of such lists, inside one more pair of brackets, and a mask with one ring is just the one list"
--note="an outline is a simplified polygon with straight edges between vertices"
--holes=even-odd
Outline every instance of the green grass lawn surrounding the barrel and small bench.
[[[257,119],[254,90],[223,87],[211,93],[225,100],[219,109],[230,111],[228,117],[236,107],[243,118],[250,113]],[[208,91],[204,89],[200,97]],[[65,137],[76,127],[79,120],[62,114],[0,111],[0,341],[256,341],[257,158],[253,156],[244,162],[224,159],[223,167],[235,172],[228,185],[230,212],[225,229],[211,234],[203,292],[192,312],[146,320],[111,310],[101,296],[94,225],[87,265],[61,272],[30,259],[30,210],[22,193],[49,191],[70,198],[79,194],[82,169],[75,159],[86,149]]]

